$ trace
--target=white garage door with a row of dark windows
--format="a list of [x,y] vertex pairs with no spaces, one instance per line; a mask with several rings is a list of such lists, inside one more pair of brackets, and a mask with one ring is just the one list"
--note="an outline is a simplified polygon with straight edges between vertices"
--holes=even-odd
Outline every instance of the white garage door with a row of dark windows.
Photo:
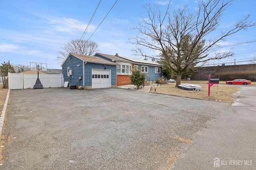
[[92,69],[92,89],[111,87],[111,71]]

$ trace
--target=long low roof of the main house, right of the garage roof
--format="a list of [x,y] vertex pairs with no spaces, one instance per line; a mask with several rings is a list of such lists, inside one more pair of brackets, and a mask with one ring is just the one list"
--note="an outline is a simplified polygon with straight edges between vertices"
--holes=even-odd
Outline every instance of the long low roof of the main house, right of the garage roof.
[[147,61],[147,60],[142,60],[142,59],[135,59],[135,58],[130,58],[130,57],[123,57],[123,56],[116,56],[116,55],[109,55],[109,54],[103,54],[103,53],[97,53],[100,55],[103,55],[104,57],[108,57],[114,61],[122,61],[122,62],[129,62],[129,63],[134,63],[134,64],[139,64],[139,65],[154,65],[154,66],[162,66],[162,64],[159,63],[153,63],[151,61]]

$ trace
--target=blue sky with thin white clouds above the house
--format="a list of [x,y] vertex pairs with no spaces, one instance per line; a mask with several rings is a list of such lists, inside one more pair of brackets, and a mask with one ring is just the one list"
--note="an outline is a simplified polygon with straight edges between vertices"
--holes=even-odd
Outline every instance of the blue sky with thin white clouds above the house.
[[[90,21],[99,0],[0,0],[0,63],[30,65],[30,62],[47,63],[49,69],[61,69],[56,57],[61,46],[72,39],[80,39]],[[102,0],[84,40],[87,40],[106,16],[116,0]],[[101,53],[125,57],[132,55],[134,45],[127,43],[128,36],[136,36],[131,30],[138,26],[141,16],[146,16],[145,4],[159,5],[165,9],[165,0],[118,0],[106,19],[90,40],[99,45]],[[171,8],[188,3],[196,9],[194,0],[172,0]],[[220,28],[228,28],[238,19],[250,13],[256,21],[255,0],[234,0],[223,14]],[[256,28],[240,31],[222,42],[221,50],[232,48],[234,57],[212,64],[246,64],[256,55]],[[248,42],[248,43],[244,43]],[[240,44],[243,43],[243,44]],[[239,44],[239,45],[237,45]],[[150,55],[150,54],[149,54]],[[152,53],[151,53],[152,55]],[[153,53],[154,55],[154,53]]]

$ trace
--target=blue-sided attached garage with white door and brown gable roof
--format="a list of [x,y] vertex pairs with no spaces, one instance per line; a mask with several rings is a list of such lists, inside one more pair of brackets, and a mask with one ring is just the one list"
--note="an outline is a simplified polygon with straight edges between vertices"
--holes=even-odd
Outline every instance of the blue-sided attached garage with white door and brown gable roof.
[[70,53],[62,63],[64,81],[85,89],[116,86],[116,63],[102,57]]

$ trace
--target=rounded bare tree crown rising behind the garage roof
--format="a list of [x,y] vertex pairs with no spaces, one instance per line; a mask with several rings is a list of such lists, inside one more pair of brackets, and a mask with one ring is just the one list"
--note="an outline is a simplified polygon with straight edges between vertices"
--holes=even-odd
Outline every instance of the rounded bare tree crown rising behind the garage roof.
[[66,45],[64,45],[62,51],[58,51],[61,56],[58,56],[56,60],[63,62],[69,53],[77,53],[82,55],[93,55],[96,52],[99,52],[98,43],[92,40],[71,40]]

